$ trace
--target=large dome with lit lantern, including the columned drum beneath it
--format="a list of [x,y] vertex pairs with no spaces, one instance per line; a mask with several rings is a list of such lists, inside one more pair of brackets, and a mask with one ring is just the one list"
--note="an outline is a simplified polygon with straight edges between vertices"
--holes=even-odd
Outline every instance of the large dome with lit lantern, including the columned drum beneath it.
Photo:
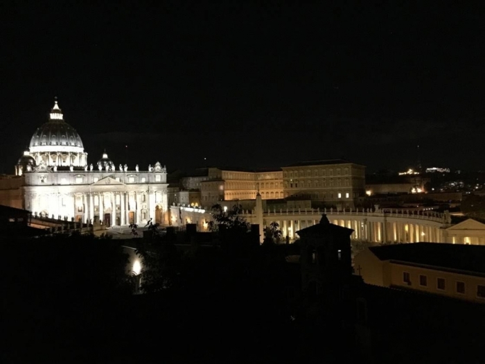
[[87,153],[78,132],[64,121],[64,115],[55,98],[49,120],[35,130],[30,139],[30,156],[39,165],[86,166]]

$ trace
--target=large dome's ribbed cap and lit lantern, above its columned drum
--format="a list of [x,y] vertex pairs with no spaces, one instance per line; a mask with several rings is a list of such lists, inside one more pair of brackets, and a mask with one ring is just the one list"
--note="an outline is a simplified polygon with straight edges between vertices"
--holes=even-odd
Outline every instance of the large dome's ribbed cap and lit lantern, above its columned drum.
[[37,128],[30,139],[30,153],[64,151],[83,153],[84,147],[78,132],[64,121],[56,100],[49,121]]

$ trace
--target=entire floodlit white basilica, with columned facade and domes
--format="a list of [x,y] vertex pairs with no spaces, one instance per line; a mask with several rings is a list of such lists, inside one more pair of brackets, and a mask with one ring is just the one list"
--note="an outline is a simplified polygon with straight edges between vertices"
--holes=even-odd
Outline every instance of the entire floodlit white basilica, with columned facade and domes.
[[64,121],[55,101],[49,119],[37,128],[15,176],[0,178],[0,204],[34,215],[107,226],[168,225],[166,167],[159,162],[116,167],[107,153],[88,164],[78,132]]

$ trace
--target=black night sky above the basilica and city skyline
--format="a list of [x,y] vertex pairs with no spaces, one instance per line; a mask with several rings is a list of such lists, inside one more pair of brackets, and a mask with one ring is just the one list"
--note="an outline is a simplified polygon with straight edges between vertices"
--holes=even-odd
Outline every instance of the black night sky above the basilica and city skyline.
[[0,171],[54,96],[92,163],[485,168],[483,8],[87,3],[1,2]]

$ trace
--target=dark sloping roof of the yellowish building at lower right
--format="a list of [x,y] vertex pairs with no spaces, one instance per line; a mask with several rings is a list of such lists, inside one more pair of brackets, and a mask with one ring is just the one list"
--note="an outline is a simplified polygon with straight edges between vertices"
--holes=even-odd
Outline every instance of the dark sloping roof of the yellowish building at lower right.
[[485,274],[484,245],[410,243],[376,246],[369,250],[381,261],[403,261]]

